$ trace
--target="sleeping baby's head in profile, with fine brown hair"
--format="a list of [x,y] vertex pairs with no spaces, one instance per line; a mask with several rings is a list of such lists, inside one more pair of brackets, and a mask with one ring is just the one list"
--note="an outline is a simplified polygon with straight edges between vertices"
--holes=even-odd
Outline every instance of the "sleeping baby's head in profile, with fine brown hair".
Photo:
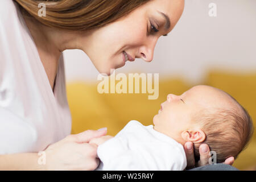
[[180,96],[168,94],[153,122],[156,131],[177,142],[193,142],[196,159],[200,144],[207,143],[216,152],[217,163],[229,156],[236,159],[253,134],[247,111],[228,93],[207,85],[194,86]]

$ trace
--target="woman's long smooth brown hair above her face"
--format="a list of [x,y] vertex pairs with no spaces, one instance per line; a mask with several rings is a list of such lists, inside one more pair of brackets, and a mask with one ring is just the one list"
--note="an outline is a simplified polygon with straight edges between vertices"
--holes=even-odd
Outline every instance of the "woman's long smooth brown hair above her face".
[[[23,15],[40,23],[72,31],[105,26],[129,14],[150,0],[14,0]],[[46,4],[46,16],[40,17],[39,3]]]

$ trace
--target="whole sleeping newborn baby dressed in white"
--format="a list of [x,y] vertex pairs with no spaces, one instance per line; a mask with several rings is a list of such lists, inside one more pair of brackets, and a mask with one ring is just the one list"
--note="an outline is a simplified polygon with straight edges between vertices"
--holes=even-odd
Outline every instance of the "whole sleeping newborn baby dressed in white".
[[180,96],[168,94],[154,116],[153,125],[130,121],[115,137],[90,141],[98,145],[97,170],[183,170],[187,166],[183,145],[208,144],[217,163],[236,159],[253,134],[247,111],[229,94],[198,85]]

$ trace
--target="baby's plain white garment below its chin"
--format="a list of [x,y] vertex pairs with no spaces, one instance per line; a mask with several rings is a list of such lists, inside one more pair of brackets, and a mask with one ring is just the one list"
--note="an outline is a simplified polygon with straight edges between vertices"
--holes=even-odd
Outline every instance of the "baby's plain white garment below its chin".
[[100,144],[98,171],[183,170],[187,159],[176,140],[132,120],[114,138]]

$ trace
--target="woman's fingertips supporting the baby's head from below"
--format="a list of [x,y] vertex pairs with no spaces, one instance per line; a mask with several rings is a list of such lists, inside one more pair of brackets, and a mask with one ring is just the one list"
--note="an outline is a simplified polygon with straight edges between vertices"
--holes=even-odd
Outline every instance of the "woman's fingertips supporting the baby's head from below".
[[[194,156],[194,148],[193,148],[193,143],[192,142],[186,142],[184,144],[184,150],[185,154],[187,157],[187,168],[186,169],[191,169],[194,167],[200,167],[200,166],[205,166],[209,164],[209,146],[207,144],[201,144],[199,147],[199,153],[200,153],[200,160],[199,162],[195,163],[195,156]],[[224,164],[229,164],[232,165],[234,163],[234,157],[230,157],[225,160]]]

